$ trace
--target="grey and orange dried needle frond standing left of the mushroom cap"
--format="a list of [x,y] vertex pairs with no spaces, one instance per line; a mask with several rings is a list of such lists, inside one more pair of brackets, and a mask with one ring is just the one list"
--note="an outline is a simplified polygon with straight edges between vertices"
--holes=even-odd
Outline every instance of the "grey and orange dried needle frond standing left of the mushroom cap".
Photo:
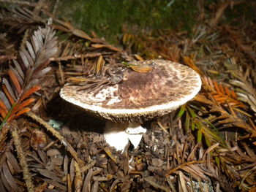
[[8,69],[10,80],[3,78],[0,91],[0,113],[3,123],[10,122],[25,112],[34,99],[29,99],[39,91],[40,78],[50,71],[48,61],[57,52],[57,37],[49,26],[34,32],[26,49],[20,51],[20,62],[13,61]]

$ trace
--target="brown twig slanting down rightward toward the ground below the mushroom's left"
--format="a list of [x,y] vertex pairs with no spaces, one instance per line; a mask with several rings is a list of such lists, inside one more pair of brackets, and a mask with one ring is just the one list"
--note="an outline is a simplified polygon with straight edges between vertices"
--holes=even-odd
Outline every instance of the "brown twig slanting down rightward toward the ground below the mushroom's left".
[[57,139],[59,139],[59,141],[65,146],[67,147],[67,150],[69,151],[69,153],[72,155],[73,158],[75,158],[75,161],[78,162],[78,164],[80,164],[80,166],[84,166],[84,162],[82,159],[78,158],[78,153],[75,152],[75,150],[73,149],[73,147],[69,144],[69,142],[67,142],[66,139],[64,139],[63,136],[61,136],[61,134],[59,134],[58,131],[56,131],[52,126],[50,126],[48,123],[45,122],[45,120],[42,120],[42,118],[39,118],[37,115],[35,115],[33,112],[27,112],[26,115],[28,115],[30,118],[32,118],[33,120],[37,121],[38,123],[40,123],[42,126],[44,126],[48,131],[50,131],[54,137],[56,137]]

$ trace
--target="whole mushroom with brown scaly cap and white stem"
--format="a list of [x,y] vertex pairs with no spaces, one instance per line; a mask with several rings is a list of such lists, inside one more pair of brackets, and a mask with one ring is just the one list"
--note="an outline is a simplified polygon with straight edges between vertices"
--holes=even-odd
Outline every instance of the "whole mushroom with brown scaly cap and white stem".
[[[172,61],[133,61],[129,66],[133,70],[126,67],[123,80],[102,86],[96,93],[71,84],[60,92],[62,99],[107,120],[105,140],[117,150],[124,150],[129,141],[138,147],[146,132],[140,126],[143,122],[173,112],[201,88],[200,76],[193,69]],[[136,72],[140,66],[151,70]]]

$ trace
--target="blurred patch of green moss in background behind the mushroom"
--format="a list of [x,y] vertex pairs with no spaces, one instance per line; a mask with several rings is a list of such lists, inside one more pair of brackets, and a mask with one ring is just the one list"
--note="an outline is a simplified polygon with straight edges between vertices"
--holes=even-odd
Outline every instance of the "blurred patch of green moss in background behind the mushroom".
[[196,0],[61,0],[59,15],[86,32],[115,42],[125,24],[141,30],[179,28],[191,31]]

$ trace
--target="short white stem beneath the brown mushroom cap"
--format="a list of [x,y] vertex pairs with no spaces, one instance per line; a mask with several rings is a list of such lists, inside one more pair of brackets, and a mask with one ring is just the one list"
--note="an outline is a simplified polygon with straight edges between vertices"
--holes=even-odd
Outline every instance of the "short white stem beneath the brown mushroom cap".
[[114,123],[108,120],[105,126],[104,137],[108,145],[115,147],[116,150],[123,151],[129,141],[136,149],[144,133],[146,133],[146,128],[140,126],[138,122]]

